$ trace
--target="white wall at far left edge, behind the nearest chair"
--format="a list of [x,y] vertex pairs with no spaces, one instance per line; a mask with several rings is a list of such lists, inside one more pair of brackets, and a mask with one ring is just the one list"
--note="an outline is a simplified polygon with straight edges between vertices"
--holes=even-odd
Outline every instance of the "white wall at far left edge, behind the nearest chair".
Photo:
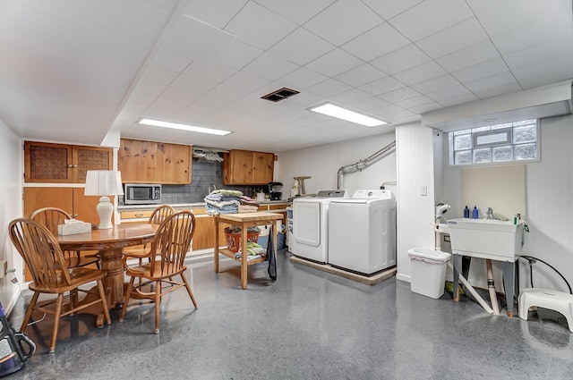
[[[23,281],[23,262],[20,254],[13,248],[8,224],[22,215],[22,162],[23,149],[21,139],[0,121],[0,162],[4,163],[2,181],[0,182],[0,259],[8,261],[8,268],[15,269],[15,274],[8,274],[0,279],[0,301],[6,312],[12,310],[20,294],[20,283]],[[14,275],[20,283],[12,283]]]

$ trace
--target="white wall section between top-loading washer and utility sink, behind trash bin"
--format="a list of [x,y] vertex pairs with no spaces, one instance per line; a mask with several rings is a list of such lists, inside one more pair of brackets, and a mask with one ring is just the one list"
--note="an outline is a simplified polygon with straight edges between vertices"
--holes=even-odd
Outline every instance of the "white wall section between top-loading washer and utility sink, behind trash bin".
[[[408,249],[435,247],[433,131],[416,122],[396,128],[398,165],[398,280],[410,281]],[[421,187],[427,195],[421,195]]]

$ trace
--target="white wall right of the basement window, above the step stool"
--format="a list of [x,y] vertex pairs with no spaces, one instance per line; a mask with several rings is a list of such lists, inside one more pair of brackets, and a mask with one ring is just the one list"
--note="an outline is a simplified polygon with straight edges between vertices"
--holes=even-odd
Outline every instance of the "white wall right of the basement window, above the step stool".
[[[526,215],[530,232],[525,253],[548,262],[573,286],[573,115],[541,121],[541,161],[526,167]],[[534,266],[534,285],[568,291],[550,268]],[[529,269],[520,270],[529,286]]]

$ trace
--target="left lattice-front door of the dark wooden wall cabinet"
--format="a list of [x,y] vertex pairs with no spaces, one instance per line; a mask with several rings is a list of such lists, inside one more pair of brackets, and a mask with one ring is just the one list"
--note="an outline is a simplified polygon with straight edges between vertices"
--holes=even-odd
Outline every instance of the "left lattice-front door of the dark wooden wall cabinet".
[[73,182],[72,146],[24,142],[25,182]]

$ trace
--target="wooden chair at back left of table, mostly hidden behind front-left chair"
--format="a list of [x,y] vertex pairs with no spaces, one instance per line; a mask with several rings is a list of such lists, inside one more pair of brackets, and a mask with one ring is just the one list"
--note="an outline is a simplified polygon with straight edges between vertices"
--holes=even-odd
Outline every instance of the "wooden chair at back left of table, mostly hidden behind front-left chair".
[[[43,207],[38,208],[30,215],[30,219],[46,227],[49,232],[57,236],[57,226],[64,224],[66,220],[72,219],[72,216],[61,208]],[[89,266],[95,264],[99,269],[98,254],[81,255],[79,250],[64,251],[66,266],[73,268],[76,266]]]

